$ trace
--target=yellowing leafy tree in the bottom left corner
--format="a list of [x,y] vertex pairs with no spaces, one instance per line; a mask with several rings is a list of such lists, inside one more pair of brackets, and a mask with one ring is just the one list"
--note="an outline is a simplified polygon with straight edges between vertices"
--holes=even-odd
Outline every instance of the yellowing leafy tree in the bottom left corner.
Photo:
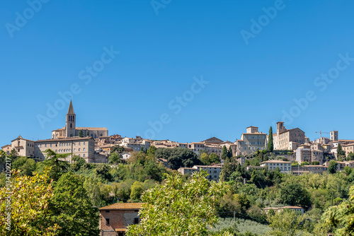
[[[11,186],[0,189],[0,235],[54,235],[57,224],[45,222],[53,189],[48,169],[42,175],[18,176],[13,172]],[[10,184],[10,183],[6,183]],[[9,187],[10,189],[7,189]],[[12,192],[8,194],[9,190]],[[11,209],[7,198],[11,196]],[[11,211],[11,230],[8,230],[6,212]],[[7,228],[7,229],[6,229]]]

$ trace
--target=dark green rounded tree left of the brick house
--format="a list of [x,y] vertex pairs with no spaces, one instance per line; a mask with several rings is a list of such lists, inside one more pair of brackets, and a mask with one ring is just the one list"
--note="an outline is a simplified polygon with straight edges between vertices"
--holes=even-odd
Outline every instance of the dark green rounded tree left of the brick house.
[[57,235],[98,235],[98,208],[93,207],[84,188],[84,177],[62,175],[50,199],[51,219],[60,226]]

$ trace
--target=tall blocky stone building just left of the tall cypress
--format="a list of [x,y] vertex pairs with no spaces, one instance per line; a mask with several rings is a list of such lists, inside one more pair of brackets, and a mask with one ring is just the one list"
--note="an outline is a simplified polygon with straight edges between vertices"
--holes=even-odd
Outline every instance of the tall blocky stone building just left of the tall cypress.
[[236,155],[248,155],[258,150],[265,150],[267,134],[258,131],[258,127],[249,126],[246,133],[241,134],[241,139],[236,140]]

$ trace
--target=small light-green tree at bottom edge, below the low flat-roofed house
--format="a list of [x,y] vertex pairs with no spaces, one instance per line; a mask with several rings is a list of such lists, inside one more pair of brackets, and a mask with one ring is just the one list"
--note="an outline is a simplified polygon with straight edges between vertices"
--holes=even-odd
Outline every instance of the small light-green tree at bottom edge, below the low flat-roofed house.
[[280,213],[270,214],[268,213],[269,227],[272,229],[267,232],[267,235],[273,236],[295,236],[303,235],[302,223],[304,216],[295,211],[285,209]]

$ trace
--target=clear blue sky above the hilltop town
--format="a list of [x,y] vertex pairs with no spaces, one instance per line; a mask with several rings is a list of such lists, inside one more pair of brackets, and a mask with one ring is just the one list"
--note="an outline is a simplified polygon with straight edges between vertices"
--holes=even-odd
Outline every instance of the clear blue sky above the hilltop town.
[[[235,141],[247,126],[268,132],[292,111],[285,126],[311,139],[333,129],[354,138],[354,61],[333,69],[338,54],[354,58],[353,1],[161,2],[154,9],[150,1],[48,1],[36,12],[24,0],[1,1],[0,145],[18,134],[50,138],[65,125],[69,102],[42,126],[38,116],[75,84],[76,126],[105,126],[109,134],[149,138],[148,122],[168,114],[153,138]],[[276,16],[263,16],[275,5]],[[263,20],[261,30],[252,19]],[[246,44],[241,32],[251,28]],[[111,46],[120,53],[102,64]],[[104,68],[89,82],[93,64]],[[331,83],[316,80],[329,71]],[[199,90],[193,78],[201,76],[209,83]],[[193,99],[191,86],[199,92]],[[307,93],[316,99],[298,108],[294,99]]]

